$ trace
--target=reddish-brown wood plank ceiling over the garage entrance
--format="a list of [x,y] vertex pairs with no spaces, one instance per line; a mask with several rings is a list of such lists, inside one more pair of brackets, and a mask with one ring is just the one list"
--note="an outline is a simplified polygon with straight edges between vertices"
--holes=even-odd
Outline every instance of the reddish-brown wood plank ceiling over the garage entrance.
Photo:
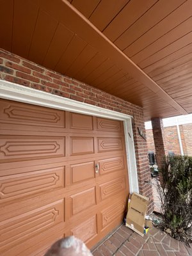
[[142,106],[145,120],[192,113],[191,0],[0,3],[3,49]]

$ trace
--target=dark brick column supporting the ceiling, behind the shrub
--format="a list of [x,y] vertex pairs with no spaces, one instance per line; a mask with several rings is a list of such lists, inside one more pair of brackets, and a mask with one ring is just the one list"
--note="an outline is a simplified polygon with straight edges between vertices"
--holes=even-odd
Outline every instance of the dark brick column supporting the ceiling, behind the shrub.
[[163,158],[166,156],[166,144],[163,130],[163,120],[161,118],[153,118],[152,129],[154,134],[154,144],[156,148],[157,166],[161,168]]

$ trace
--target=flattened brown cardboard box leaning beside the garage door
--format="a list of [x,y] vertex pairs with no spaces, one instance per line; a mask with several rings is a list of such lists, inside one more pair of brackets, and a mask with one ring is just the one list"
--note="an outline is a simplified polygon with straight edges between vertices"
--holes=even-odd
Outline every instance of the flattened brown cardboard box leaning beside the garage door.
[[145,227],[148,200],[149,198],[145,196],[133,193],[128,206],[126,226],[140,234],[140,236],[144,236],[143,230]]

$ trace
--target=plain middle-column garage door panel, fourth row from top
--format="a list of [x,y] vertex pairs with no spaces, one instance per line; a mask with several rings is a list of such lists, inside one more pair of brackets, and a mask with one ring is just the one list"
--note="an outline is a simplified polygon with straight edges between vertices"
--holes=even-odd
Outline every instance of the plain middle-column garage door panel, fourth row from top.
[[72,199],[72,215],[88,210],[93,205],[96,205],[95,187],[83,190],[70,197]]

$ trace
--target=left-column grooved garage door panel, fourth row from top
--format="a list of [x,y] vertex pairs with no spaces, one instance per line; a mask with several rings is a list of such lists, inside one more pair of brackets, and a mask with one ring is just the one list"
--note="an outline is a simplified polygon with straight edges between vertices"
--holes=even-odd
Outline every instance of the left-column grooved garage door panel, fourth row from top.
[[1,250],[12,248],[15,244],[23,243],[45,230],[49,232],[49,228],[64,221],[64,209],[64,200],[59,200],[2,221],[0,226]]

